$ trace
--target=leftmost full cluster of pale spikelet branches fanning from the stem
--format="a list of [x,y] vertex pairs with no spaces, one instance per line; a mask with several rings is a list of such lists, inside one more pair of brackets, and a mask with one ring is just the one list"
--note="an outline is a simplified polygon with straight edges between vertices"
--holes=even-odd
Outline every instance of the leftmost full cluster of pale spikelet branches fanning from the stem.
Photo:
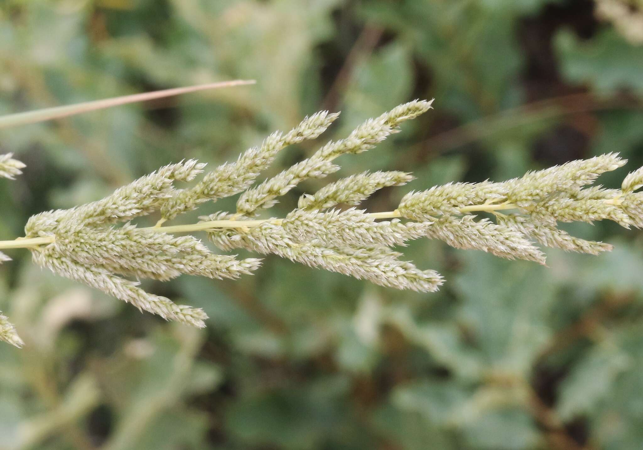
[[52,238],[44,248],[33,249],[33,260],[138,309],[203,327],[206,315],[201,309],[175,305],[167,298],[145,293],[136,283],[118,275],[156,280],[170,280],[181,274],[238,278],[257,269],[259,261],[215,255],[192,236],[175,237],[160,228],[111,226],[113,222],[129,221],[158,210],[175,192],[173,181],[190,181],[202,169],[203,165],[194,160],[168,165],[102,200],[33,216],[25,227],[26,237]]

